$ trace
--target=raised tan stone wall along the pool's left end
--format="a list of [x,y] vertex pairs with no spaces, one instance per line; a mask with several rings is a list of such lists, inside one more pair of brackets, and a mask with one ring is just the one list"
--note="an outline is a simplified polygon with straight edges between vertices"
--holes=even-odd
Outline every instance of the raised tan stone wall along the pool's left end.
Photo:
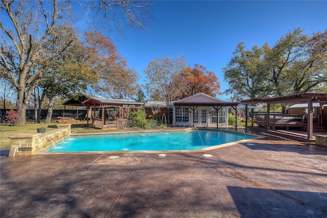
[[10,152],[8,157],[31,155],[42,152],[71,135],[71,124],[59,124],[57,129],[45,133],[19,133],[9,136]]

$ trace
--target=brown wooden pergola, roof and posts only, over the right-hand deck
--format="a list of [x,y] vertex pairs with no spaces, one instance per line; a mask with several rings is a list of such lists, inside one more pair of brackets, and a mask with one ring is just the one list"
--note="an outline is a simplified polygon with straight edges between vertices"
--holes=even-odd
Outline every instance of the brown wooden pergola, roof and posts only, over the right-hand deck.
[[[248,99],[241,101],[241,104],[245,105],[245,113],[247,114],[247,106],[251,104],[267,104],[267,115],[265,128],[269,129],[270,127],[270,105],[271,104],[284,104],[287,110],[289,104],[298,104],[298,103],[307,103],[308,104],[308,114],[307,114],[307,130],[308,130],[308,139],[313,138],[313,103],[319,103],[320,111],[323,111],[323,105],[327,103],[327,93],[299,93],[292,94],[287,96],[279,97],[263,97],[256,99]],[[245,126],[247,127],[248,118],[245,119]]]

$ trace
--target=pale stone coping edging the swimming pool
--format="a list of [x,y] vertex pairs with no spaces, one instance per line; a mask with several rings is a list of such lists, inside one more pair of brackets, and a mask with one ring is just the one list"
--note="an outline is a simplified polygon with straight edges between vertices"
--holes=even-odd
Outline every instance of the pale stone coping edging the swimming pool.
[[[120,132],[96,132],[96,133],[72,133],[71,136],[83,136],[83,135],[107,135],[107,134],[135,134],[135,133],[155,133],[155,132],[185,132],[185,131],[191,131],[193,129],[197,128],[183,128],[183,129],[158,129],[158,130],[136,130],[136,131],[120,131]],[[224,132],[230,132],[230,133],[236,133],[240,134],[239,132],[235,131],[228,131],[228,130],[217,130],[217,129],[201,129],[206,131],[224,131]],[[129,153],[203,153],[210,150],[215,150],[219,148],[224,148],[227,146],[232,146],[234,144],[244,143],[248,142],[253,139],[260,139],[265,138],[267,136],[263,135],[255,135],[251,133],[247,133],[245,135],[253,136],[253,138],[250,139],[242,139],[238,141],[232,141],[227,142],[224,144],[218,144],[216,146],[211,146],[203,149],[197,149],[197,150],[139,150],[139,151],[73,151],[73,152],[38,152],[35,154],[47,154],[47,155],[54,155],[54,154],[129,154]]]

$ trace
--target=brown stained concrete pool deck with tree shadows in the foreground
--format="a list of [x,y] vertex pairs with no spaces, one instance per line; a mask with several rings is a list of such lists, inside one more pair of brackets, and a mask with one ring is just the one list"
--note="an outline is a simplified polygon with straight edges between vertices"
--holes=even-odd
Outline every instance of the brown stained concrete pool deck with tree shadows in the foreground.
[[1,217],[327,216],[327,148],[315,144],[269,136],[213,157],[8,152]]

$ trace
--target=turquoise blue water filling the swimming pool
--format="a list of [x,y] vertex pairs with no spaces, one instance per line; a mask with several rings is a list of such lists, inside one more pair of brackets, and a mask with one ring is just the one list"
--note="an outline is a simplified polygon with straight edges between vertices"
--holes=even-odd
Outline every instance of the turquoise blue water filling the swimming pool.
[[73,136],[46,152],[198,150],[246,137],[252,138],[244,134],[206,130]]

